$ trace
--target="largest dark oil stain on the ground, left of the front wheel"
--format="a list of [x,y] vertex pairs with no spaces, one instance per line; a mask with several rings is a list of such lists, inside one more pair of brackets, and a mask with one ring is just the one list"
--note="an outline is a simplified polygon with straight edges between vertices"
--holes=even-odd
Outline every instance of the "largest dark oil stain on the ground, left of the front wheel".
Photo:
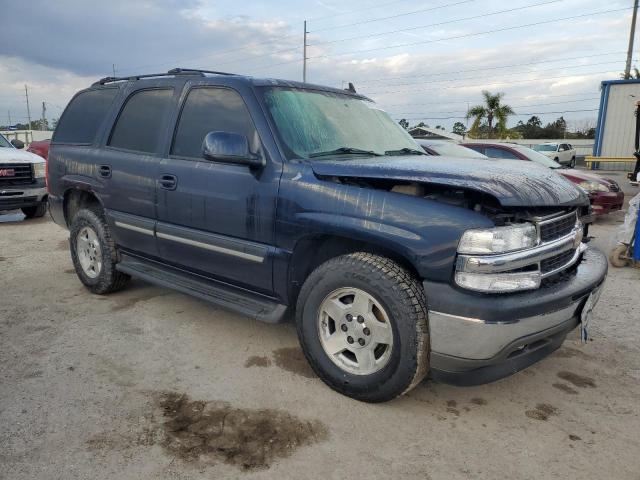
[[243,470],[269,468],[278,458],[328,436],[318,421],[304,421],[281,410],[233,408],[224,402],[190,400],[164,393],[162,446],[185,461],[223,461]]

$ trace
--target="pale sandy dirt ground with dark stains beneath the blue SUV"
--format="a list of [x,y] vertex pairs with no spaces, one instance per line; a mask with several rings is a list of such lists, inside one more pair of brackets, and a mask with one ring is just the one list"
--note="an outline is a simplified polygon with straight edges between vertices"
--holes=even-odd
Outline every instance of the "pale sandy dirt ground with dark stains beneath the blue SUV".
[[640,270],[610,270],[585,346],[368,405],[315,377],[293,325],[142,281],[92,295],[67,231],[0,222],[0,478],[640,478]]

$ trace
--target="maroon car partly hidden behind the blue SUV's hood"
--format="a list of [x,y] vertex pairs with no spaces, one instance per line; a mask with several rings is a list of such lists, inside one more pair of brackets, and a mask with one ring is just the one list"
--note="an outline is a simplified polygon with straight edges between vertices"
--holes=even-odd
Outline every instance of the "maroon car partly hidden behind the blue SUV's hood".
[[591,208],[596,215],[622,209],[624,192],[613,180],[564,167],[535,150],[515,143],[463,143],[462,145],[490,158],[530,160],[545,167],[557,169],[558,173],[586,190],[591,200]]

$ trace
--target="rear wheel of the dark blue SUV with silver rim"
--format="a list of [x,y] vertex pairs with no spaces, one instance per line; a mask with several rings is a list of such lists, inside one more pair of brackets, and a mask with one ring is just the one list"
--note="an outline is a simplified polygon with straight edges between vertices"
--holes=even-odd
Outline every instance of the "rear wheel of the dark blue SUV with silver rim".
[[76,274],[91,292],[103,295],[125,287],[130,277],[116,270],[118,252],[101,212],[78,211],[71,222],[70,237]]

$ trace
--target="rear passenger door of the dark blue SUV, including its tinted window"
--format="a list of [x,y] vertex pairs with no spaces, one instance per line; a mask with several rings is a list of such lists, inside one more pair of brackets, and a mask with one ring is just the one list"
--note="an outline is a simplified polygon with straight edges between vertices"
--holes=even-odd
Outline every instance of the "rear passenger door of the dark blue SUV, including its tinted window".
[[117,243],[134,253],[157,256],[156,178],[161,139],[174,100],[172,86],[132,88],[98,154],[98,175],[107,219]]

